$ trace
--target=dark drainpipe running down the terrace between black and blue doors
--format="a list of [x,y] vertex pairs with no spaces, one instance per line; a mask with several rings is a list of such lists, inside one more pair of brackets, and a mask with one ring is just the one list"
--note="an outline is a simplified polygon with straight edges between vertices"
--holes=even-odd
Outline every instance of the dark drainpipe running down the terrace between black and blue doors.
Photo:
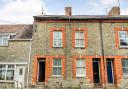
[[104,66],[104,83],[105,83],[105,89],[106,89],[106,66],[105,66],[105,57],[104,57],[104,40],[103,40],[103,29],[102,29],[102,18],[99,20],[100,23],[100,40],[101,40],[101,54],[102,54],[102,60],[103,60],[103,66]]

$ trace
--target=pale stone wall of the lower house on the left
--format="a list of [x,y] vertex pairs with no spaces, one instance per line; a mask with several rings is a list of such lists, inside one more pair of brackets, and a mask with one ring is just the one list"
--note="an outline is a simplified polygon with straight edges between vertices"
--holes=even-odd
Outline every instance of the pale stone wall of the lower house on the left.
[[[27,63],[29,63],[29,52],[30,52],[29,40],[9,40],[8,46],[0,46],[0,62],[1,63],[4,63],[4,64],[20,63],[20,65],[24,66],[25,68],[24,85],[25,86],[27,85],[27,74],[28,74]],[[16,67],[17,65],[19,64],[16,64]],[[15,73],[14,73],[14,76],[15,76]],[[6,83],[4,82],[4,84]]]

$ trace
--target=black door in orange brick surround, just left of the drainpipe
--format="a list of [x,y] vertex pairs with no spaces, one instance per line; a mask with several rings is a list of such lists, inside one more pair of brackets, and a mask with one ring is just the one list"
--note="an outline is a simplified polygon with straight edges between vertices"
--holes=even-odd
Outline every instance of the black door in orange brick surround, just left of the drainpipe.
[[100,65],[99,59],[93,59],[93,80],[95,84],[100,84]]

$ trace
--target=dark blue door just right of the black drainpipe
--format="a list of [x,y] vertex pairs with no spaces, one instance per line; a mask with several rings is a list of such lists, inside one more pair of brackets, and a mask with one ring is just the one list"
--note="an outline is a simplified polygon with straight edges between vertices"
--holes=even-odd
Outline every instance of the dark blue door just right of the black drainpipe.
[[108,78],[108,83],[114,83],[114,76],[113,76],[113,59],[107,58],[106,66],[107,66],[107,78]]

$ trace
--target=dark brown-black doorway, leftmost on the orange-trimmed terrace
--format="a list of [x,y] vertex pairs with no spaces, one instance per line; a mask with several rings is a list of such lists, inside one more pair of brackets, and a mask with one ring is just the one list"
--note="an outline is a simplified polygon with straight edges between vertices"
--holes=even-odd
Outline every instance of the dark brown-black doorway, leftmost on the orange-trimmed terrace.
[[45,82],[45,59],[38,59],[38,82]]

